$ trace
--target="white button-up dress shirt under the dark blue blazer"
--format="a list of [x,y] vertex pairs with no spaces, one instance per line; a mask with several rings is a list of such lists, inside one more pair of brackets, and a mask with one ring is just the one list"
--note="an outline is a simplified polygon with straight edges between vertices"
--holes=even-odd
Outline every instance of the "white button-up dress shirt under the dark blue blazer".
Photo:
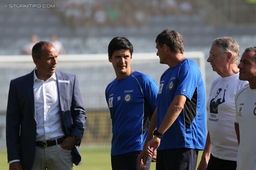
[[60,104],[56,74],[46,81],[39,80],[34,70],[36,106],[36,141],[48,141],[65,136],[61,127]]

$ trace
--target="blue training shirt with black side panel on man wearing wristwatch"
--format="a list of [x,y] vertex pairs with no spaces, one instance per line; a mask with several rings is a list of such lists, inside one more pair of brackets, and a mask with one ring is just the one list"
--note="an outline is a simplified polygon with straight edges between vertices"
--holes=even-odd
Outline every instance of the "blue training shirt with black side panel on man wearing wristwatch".
[[174,96],[187,97],[180,115],[164,133],[158,150],[174,148],[204,149],[206,141],[206,103],[204,80],[198,64],[185,59],[161,76],[157,105],[157,129]]

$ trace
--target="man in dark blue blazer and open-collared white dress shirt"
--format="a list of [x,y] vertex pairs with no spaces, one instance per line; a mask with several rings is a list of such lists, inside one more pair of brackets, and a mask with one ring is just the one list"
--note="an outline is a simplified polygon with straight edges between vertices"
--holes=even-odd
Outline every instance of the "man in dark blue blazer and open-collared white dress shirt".
[[32,49],[36,68],[10,82],[6,113],[10,170],[72,170],[73,163],[81,164],[78,146],[86,113],[76,75],[56,70],[57,57],[51,43],[36,43]]

